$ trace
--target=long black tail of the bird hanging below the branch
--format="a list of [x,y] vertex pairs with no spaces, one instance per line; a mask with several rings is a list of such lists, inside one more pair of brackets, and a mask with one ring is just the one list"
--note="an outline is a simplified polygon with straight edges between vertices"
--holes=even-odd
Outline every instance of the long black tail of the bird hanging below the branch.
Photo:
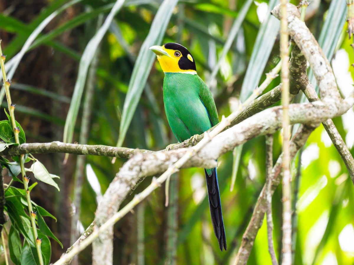
[[220,250],[226,250],[226,236],[224,229],[224,221],[222,219],[221,202],[218,185],[218,175],[216,167],[213,169],[204,169],[206,186],[208,188],[209,208],[211,215],[211,223],[213,224],[214,233],[219,241]]

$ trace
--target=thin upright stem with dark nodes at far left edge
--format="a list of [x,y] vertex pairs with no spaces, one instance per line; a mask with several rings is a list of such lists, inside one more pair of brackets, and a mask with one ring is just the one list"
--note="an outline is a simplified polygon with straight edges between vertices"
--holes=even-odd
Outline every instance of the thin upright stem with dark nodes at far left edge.
[[[1,40],[0,40],[1,43]],[[2,70],[2,79],[4,80],[4,86],[5,86],[5,94],[6,94],[6,99],[7,99],[7,105],[8,105],[8,111],[10,112],[10,117],[11,117],[11,124],[12,124],[12,130],[15,135],[15,141],[16,143],[20,144],[18,134],[19,134],[19,128],[16,126],[15,122],[15,105],[12,104],[11,101],[11,96],[10,96],[10,84],[11,82],[9,80],[6,80],[6,72],[5,72],[5,55],[2,53],[1,45],[0,45],[0,54],[1,54],[1,59],[0,59],[0,65],[1,65],[1,70]],[[37,233],[37,227],[36,227],[36,220],[35,216],[36,214],[33,212],[32,208],[32,203],[31,203],[31,197],[29,195],[29,189],[28,189],[28,182],[29,178],[27,178],[25,170],[24,170],[24,159],[23,155],[18,156],[18,160],[20,163],[21,167],[21,175],[22,175],[22,181],[24,185],[24,190],[26,194],[26,199],[27,199],[27,204],[28,204],[28,211],[29,211],[29,216],[31,219],[31,224],[32,224],[32,229],[33,229],[33,234],[34,234],[34,240],[38,239],[38,233]],[[41,252],[41,247],[40,244],[37,242],[34,242],[34,245],[36,246],[37,249],[37,254],[39,258],[39,263],[40,265],[43,265],[43,257],[42,257],[42,252]]]

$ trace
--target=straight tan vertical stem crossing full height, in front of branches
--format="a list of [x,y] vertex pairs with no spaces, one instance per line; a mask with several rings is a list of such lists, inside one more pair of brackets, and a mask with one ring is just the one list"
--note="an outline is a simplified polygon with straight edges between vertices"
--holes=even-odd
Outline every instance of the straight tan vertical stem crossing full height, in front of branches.
[[289,152],[289,55],[287,33],[287,0],[281,0],[280,19],[280,56],[282,93],[281,103],[283,106],[283,182],[282,182],[282,202],[283,202],[283,238],[282,254],[283,265],[291,264],[291,176],[290,176],[290,152]]

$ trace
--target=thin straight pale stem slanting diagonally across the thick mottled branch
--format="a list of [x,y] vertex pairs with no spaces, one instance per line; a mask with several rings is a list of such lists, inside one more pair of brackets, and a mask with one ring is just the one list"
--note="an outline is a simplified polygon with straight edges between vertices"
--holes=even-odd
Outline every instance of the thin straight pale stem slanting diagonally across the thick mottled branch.
[[179,169],[196,153],[198,153],[207,143],[213,139],[216,135],[221,133],[231,122],[241,113],[242,110],[246,108],[254,99],[261,94],[261,90],[256,88],[252,95],[245,101],[244,104],[240,104],[238,110],[232,112],[227,118],[224,116],[221,119],[221,122],[212,130],[210,133],[205,132],[204,138],[197,143],[194,147],[190,148],[176,163],[171,165],[160,177],[153,178],[152,183],[145,188],[141,193],[136,194],[133,200],[131,200],[126,206],[124,206],[120,211],[116,212],[112,217],[110,217],[104,224],[102,224],[98,229],[94,230],[90,236],[88,236],[84,241],[80,243],[79,246],[74,247],[70,252],[63,255],[54,265],[64,264],[65,262],[72,259],[76,254],[81,252],[87,246],[95,240],[99,234],[107,229],[109,229],[113,224],[118,222],[123,216],[129,213],[139,202],[145,199],[150,193],[152,193],[156,188],[161,186],[166,179],[171,176],[173,173],[179,171]]

